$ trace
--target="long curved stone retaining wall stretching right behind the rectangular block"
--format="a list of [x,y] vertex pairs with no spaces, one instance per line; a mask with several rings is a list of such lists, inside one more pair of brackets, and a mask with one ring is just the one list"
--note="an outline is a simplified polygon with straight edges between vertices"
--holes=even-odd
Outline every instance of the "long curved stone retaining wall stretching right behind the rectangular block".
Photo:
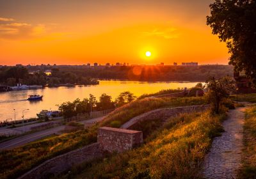
[[191,105],[187,107],[172,107],[172,108],[163,108],[163,109],[156,109],[153,111],[149,111],[148,113],[141,114],[132,118],[131,120],[124,123],[121,128],[132,128],[138,121],[144,120],[156,120],[156,119],[163,119],[167,120],[170,117],[175,117],[181,113],[193,113],[193,112],[200,112],[205,111],[205,109],[209,109],[210,105]]

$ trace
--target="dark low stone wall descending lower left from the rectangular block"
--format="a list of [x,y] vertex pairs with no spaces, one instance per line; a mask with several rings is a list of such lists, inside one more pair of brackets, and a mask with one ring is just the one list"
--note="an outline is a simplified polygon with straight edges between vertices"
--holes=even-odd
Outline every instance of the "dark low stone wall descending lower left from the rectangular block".
[[47,160],[40,166],[37,166],[34,169],[31,169],[31,171],[28,171],[28,173],[20,176],[19,179],[49,178],[49,176],[58,175],[76,164],[81,164],[82,162],[90,161],[102,156],[103,154],[99,148],[99,143],[93,143]]

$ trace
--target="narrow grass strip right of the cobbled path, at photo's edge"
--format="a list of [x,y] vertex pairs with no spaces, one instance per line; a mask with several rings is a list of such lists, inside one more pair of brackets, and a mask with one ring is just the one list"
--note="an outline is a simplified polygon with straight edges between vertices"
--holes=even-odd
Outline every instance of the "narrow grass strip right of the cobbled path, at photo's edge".
[[244,121],[243,166],[239,178],[256,178],[256,107],[246,110]]

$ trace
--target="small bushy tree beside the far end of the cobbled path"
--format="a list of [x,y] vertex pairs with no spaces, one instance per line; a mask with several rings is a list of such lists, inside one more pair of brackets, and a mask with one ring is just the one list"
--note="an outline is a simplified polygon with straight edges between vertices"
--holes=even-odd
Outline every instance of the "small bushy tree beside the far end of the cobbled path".
[[212,112],[218,114],[220,112],[221,102],[234,91],[235,82],[230,77],[223,77],[218,81],[214,77],[209,77],[206,81],[207,95],[212,106]]

